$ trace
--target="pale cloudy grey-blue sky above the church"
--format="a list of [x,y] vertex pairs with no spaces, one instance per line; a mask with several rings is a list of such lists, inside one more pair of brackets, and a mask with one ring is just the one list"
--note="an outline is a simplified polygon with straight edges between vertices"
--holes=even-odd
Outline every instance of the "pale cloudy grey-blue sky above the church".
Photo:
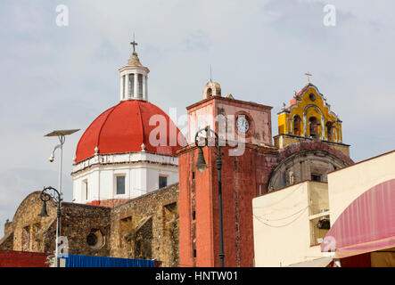
[[[0,237],[21,201],[58,185],[55,129],[81,130],[63,147],[62,191],[72,200],[80,136],[119,102],[119,72],[136,35],[151,72],[149,101],[169,113],[202,100],[210,79],[222,94],[276,113],[310,81],[342,119],[343,142],[360,161],[392,151],[395,2],[391,0],[2,0],[0,3]],[[56,19],[68,8],[67,26]],[[325,25],[327,4],[335,25]],[[327,18],[326,18],[327,19]],[[333,18],[331,18],[333,20]]]

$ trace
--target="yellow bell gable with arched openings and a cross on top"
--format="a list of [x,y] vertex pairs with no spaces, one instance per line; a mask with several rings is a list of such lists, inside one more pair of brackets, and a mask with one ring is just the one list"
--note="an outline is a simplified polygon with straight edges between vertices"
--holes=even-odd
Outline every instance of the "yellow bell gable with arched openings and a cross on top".
[[299,93],[295,92],[289,107],[283,103],[277,118],[278,135],[274,137],[277,148],[293,142],[320,140],[350,156],[350,145],[342,143],[342,120],[310,82]]

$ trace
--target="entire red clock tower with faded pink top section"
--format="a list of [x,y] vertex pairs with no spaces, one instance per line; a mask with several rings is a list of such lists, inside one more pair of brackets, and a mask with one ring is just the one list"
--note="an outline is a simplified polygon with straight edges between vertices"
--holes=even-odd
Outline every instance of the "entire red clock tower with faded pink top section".
[[272,107],[222,96],[211,80],[203,100],[186,107],[188,145],[177,151],[179,163],[180,265],[219,266],[217,148],[204,147],[210,166],[199,173],[194,138],[210,126],[218,134],[222,155],[222,208],[225,266],[253,266],[251,200],[266,187],[267,177],[257,153],[276,151],[272,145]]

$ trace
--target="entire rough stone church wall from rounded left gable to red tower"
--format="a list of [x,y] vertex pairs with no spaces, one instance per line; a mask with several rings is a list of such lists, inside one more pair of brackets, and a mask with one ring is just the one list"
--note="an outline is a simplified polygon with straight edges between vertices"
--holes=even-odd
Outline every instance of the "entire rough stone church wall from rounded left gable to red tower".
[[[53,254],[56,205],[38,214],[43,202],[32,192],[7,225],[0,250]],[[178,183],[130,199],[116,207],[62,203],[61,236],[69,254],[158,259],[162,266],[178,266]]]

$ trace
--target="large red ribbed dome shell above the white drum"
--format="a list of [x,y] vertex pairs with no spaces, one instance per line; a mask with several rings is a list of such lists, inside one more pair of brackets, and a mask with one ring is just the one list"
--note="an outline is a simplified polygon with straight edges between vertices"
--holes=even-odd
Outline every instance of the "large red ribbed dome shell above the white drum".
[[[149,121],[153,115],[162,115],[166,118],[166,146],[152,146],[150,143],[151,131],[160,126],[159,122],[155,122],[156,120],[154,120],[156,124],[150,126]],[[182,145],[178,144],[177,139],[172,140],[177,145],[174,145],[175,143],[170,145],[169,126],[177,130],[178,137],[179,129],[160,108],[150,102],[139,100],[121,101],[118,105],[105,110],[87,127],[77,145],[76,163],[92,157],[96,147],[101,154],[137,152],[142,151],[143,143],[145,151],[175,156],[176,150]],[[158,139],[160,135],[157,134]],[[184,135],[180,135],[185,142]]]

